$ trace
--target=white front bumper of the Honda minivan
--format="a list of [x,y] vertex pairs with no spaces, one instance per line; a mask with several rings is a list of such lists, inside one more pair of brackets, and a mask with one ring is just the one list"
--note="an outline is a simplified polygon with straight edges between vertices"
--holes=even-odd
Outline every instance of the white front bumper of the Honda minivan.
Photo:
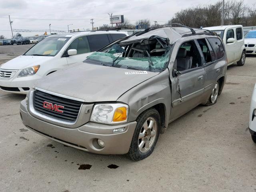
[[18,74],[20,74],[21,71],[22,70],[18,70],[18,72],[16,72],[14,77],[8,80],[0,79],[0,86],[4,87],[0,89],[10,93],[27,94],[29,90],[27,89],[24,90],[24,88],[32,88],[36,83],[36,81],[42,78],[38,74],[34,74],[28,77],[17,78]]

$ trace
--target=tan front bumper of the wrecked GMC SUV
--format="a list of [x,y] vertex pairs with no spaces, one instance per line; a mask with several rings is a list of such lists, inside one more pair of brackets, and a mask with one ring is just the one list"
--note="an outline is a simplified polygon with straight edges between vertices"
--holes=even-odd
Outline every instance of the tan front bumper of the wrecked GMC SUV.
[[[129,151],[137,124],[137,122],[130,122],[106,125],[88,122],[78,128],[66,128],[31,116],[25,100],[20,104],[20,115],[23,124],[30,130],[67,146],[98,154],[126,154]],[[110,130],[116,128],[125,128],[125,131],[109,134]],[[108,134],[106,134],[107,132]],[[104,141],[104,148],[98,146],[97,139]]]

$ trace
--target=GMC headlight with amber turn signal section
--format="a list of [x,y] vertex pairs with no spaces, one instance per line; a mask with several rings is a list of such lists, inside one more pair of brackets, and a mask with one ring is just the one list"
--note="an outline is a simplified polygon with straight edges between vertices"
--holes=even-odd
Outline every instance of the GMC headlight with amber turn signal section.
[[122,103],[96,104],[92,110],[91,121],[105,124],[127,122],[129,107]]

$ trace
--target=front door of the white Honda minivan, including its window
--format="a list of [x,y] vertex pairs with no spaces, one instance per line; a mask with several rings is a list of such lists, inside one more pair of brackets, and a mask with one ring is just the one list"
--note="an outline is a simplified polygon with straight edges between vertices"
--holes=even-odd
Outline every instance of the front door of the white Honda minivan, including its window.
[[66,57],[68,61],[68,65],[72,65],[76,62],[84,61],[86,57],[90,55],[90,52],[91,52],[87,36],[80,36],[75,38],[70,43],[68,48],[65,50],[64,55],[67,55],[68,50],[70,49],[76,49],[77,54]]

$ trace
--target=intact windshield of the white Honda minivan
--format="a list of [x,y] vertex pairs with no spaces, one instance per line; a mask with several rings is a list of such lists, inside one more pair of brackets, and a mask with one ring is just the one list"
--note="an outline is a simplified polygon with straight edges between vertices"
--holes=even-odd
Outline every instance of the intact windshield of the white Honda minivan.
[[49,37],[35,44],[24,55],[55,56],[68,42],[70,37]]

